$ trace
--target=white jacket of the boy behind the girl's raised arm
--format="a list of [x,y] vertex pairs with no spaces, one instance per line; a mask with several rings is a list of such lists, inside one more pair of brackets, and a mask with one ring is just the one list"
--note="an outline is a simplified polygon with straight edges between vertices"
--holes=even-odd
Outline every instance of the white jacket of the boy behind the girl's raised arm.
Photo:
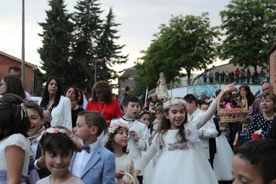
[[[201,111],[199,108],[194,111],[193,116],[195,121],[197,118],[199,118],[202,114],[205,112]],[[190,114],[188,115],[188,120],[190,121]],[[213,118],[211,118],[203,127],[199,128],[198,130],[198,137],[202,142],[202,148],[203,153],[207,159],[210,159],[209,154],[209,138],[214,138],[217,136],[217,129],[216,125],[213,121]]]

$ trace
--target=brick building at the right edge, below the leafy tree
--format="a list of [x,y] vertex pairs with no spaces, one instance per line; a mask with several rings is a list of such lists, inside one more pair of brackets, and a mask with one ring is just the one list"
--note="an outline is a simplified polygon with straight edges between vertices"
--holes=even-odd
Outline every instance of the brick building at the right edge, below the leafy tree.
[[276,43],[266,52],[269,58],[269,79],[271,85],[276,89]]

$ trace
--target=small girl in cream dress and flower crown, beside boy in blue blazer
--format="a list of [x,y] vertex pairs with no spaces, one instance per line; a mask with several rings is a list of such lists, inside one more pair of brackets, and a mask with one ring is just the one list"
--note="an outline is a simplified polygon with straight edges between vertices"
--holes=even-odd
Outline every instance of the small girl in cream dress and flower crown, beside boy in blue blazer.
[[[131,180],[127,174],[124,174],[125,172],[131,175],[134,172],[133,161],[127,151],[128,135],[130,135],[128,125],[124,122],[114,122],[108,128],[108,140],[105,148],[109,149],[115,155],[115,175],[117,178],[116,183],[118,184],[127,184]],[[137,178],[136,184],[139,184]]]

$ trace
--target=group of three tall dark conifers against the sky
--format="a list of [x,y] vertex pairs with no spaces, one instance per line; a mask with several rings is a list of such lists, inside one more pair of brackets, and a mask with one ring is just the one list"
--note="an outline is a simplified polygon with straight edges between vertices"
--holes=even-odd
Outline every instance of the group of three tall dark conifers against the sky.
[[110,69],[114,64],[125,63],[128,56],[121,54],[125,45],[115,44],[120,25],[114,22],[110,8],[106,20],[100,18],[103,12],[98,0],[78,0],[74,13],[67,13],[63,0],[49,0],[51,10],[47,10],[46,22],[39,23],[43,28],[43,46],[38,49],[42,60],[45,79],[53,75],[61,79],[64,87],[76,85],[89,89],[94,84],[95,60],[97,81],[118,77]]

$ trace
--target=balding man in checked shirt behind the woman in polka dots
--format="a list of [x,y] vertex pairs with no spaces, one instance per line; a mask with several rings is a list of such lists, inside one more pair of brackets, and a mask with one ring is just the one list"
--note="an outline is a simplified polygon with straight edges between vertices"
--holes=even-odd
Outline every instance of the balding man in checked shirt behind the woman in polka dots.
[[[270,92],[273,93],[274,88],[270,83],[264,83],[262,85],[262,92]],[[251,120],[252,117],[257,114],[257,113],[262,113],[263,110],[261,108],[260,105],[261,99],[260,98],[256,98],[256,100],[252,103],[251,108],[249,110],[249,114],[248,114],[248,119]]]

